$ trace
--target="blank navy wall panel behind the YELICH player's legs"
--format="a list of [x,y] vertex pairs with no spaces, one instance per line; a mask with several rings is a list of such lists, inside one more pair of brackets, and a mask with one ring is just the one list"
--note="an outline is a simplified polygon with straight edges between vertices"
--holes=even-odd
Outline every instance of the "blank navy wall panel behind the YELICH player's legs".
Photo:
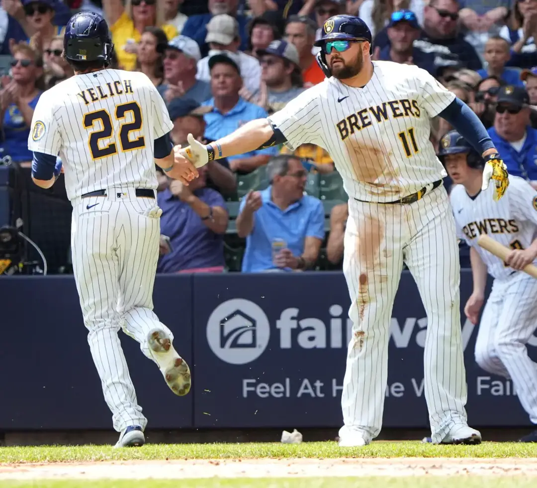
[[[0,429],[111,429],[72,277],[2,277]],[[190,277],[159,277],[155,312],[192,362]],[[192,427],[193,395],[177,397],[140,345],[119,333],[150,428]]]

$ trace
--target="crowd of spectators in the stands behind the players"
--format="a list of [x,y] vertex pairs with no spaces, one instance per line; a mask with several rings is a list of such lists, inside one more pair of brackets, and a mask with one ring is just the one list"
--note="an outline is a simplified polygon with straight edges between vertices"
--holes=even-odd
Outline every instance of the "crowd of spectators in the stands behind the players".
[[[62,32],[79,10],[105,16],[112,67],[147,74],[183,145],[188,133],[225,136],[322,82],[313,45],[322,25],[358,15],[374,60],[432,73],[481,118],[509,173],[537,188],[537,0],[2,0],[0,144],[21,166],[35,104],[73,75]],[[433,121],[436,148],[450,129]],[[346,196],[321,147],[211,161],[189,187],[159,174],[158,202],[169,237],[158,272],[341,266]]]

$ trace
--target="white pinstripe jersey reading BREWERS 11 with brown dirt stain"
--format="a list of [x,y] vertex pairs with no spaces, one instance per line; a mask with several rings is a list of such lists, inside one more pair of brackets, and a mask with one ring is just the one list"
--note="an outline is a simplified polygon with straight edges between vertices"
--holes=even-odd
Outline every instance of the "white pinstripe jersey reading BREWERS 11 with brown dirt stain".
[[269,118],[292,148],[311,143],[328,151],[349,196],[390,202],[446,176],[429,140],[430,119],[455,95],[417,66],[373,65],[365,87],[330,77]]

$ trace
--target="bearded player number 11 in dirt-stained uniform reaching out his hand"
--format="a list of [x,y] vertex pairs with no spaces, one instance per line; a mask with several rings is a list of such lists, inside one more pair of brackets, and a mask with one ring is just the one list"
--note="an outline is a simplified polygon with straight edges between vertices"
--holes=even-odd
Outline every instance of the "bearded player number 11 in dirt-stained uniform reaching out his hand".
[[[371,60],[371,32],[358,17],[323,25],[317,60],[327,78],[279,112],[203,146],[189,137],[196,166],[257,147],[313,143],[328,151],[349,194],[345,279],[354,337],[343,380],[341,446],[366,445],[382,425],[388,340],[403,263],[429,319],[425,397],[434,443],[479,443],[467,425],[459,310],[459,250],[446,175],[429,140],[431,117],[458,128],[487,160],[483,186],[502,197],[509,179],[487,131],[466,104],[416,66]],[[291,177],[290,175],[289,177]],[[255,225],[255,222],[254,222]],[[313,263],[301,259],[302,267]]]

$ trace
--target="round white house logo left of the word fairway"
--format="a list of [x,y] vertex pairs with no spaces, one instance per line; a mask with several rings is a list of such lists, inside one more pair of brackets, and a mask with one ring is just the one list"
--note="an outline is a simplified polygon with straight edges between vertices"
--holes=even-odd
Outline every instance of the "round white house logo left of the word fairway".
[[269,344],[270,324],[263,309],[236,298],[217,306],[207,321],[207,342],[229,364],[246,364],[262,355]]

